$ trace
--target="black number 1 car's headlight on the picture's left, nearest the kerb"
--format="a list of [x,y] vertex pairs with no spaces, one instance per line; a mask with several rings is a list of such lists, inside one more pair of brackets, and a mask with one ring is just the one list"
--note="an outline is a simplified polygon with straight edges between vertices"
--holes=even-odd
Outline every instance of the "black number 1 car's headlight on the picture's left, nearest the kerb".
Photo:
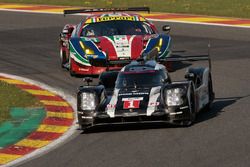
[[94,93],[83,92],[81,94],[81,108],[82,110],[95,110],[96,97]]

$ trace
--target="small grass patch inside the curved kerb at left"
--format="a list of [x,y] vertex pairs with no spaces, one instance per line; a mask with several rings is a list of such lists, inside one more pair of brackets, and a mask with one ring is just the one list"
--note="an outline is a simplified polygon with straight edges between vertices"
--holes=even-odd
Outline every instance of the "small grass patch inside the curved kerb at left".
[[17,88],[15,85],[0,81],[0,123],[9,120],[11,107],[41,107],[38,99]]

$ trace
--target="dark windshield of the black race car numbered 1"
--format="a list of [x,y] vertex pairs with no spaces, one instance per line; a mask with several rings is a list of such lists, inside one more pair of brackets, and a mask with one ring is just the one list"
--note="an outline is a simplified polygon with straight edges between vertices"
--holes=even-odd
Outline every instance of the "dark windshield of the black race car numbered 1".
[[116,88],[126,87],[154,87],[163,84],[165,79],[160,71],[144,71],[144,72],[121,72],[116,80]]

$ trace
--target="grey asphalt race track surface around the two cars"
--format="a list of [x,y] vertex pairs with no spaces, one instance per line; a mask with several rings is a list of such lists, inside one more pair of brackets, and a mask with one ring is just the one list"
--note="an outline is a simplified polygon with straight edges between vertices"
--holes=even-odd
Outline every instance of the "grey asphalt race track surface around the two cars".
[[[80,16],[0,12],[0,71],[75,95],[81,78],[59,65],[58,35]],[[155,23],[160,29],[164,23]],[[204,55],[211,42],[216,100],[188,128],[136,125],[76,130],[60,147],[19,164],[25,167],[249,166],[250,29],[190,24],[172,26],[175,54]],[[181,78],[190,64],[171,75]]]

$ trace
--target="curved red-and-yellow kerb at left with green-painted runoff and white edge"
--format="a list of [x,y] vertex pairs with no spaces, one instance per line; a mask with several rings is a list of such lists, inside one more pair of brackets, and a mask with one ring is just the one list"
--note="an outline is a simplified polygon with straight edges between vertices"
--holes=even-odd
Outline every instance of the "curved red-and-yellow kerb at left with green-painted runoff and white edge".
[[15,85],[43,105],[39,108],[11,109],[12,119],[0,125],[0,166],[11,166],[39,154],[73,133],[75,122],[71,106],[74,105],[74,98],[18,76],[0,73],[0,81]]

